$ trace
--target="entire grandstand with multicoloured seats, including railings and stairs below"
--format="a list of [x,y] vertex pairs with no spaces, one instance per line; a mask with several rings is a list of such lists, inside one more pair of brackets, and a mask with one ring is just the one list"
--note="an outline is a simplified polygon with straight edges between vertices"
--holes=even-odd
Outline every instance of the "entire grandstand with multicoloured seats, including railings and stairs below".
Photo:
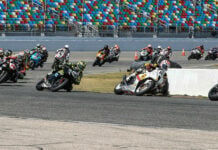
[[216,36],[217,14],[217,0],[1,0],[0,32]]

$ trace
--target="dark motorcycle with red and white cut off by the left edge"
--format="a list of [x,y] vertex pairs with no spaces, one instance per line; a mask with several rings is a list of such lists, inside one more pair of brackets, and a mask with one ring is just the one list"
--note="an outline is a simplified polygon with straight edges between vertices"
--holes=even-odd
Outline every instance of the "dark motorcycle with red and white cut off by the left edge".
[[5,58],[5,60],[0,64],[0,83],[6,82],[7,80],[17,82],[19,76],[17,69],[18,66],[15,57]]

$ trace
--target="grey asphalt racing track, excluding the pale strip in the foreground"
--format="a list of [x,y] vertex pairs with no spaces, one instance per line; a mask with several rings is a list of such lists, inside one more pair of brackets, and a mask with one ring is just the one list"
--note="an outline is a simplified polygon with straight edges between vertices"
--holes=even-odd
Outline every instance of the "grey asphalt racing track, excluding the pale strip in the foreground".
[[[50,71],[53,55],[50,53],[43,68],[28,71],[24,80],[0,85],[0,116],[218,131],[218,103],[207,98],[135,97],[83,91],[38,92],[35,84]],[[85,74],[96,74],[125,71],[133,55],[134,52],[123,52],[119,62],[94,68],[91,66],[94,52],[72,52],[71,60],[87,61]],[[218,63],[187,61],[186,56],[180,55],[181,52],[176,52],[172,60],[184,68],[215,68],[214,64]]]

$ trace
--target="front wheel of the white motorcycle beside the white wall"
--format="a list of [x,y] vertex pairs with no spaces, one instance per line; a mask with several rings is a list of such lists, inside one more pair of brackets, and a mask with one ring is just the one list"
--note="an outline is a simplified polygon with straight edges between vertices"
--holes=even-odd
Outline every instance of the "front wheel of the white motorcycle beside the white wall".
[[145,80],[144,82],[141,82],[135,90],[135,95],[142,96],[145,93],[148,93],[149,91],[151,91],[151,89],[154,87],[154,85],[155,85],[155,83],[151,79],[148,79],[148,80]]

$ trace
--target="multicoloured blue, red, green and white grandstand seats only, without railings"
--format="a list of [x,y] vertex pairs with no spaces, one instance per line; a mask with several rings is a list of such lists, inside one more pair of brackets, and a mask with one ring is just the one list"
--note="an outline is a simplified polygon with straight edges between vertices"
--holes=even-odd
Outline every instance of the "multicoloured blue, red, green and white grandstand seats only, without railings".
[[5,23],[8,28],[15,25],[27,29],[44,24],[48,28],[65,26],[74,21],[112,27],[150,27],[159,23],[218,29],[217,9],[216,0],[202,0],[196,8],[193,0],[159,0],[159,4],[158,0],[120,0],[120,4],[116,0],[1,0],[0,29]]

